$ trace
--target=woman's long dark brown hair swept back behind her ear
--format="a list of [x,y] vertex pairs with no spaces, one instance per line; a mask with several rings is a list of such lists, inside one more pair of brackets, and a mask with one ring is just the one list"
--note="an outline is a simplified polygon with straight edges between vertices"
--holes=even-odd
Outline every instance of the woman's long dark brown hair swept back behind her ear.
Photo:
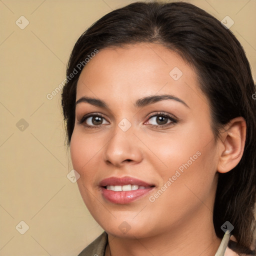
[[[232,118],[243,116],[247,133],[243,156],[236,167],[219,173],[213,223],[218,237],[229,221],[237,252],[252,253],[256,197],[255,85],[244,50],[233,33],[204,10],[185,2],[135,2],[113,10],[92,24],[75,43],[66,75],[95,49],[137,42],[155,42],[178,52],[196,70],[209,100],[215,139]],[[62,91],[63,116],[69,145],[75,120],[76,83],[81,69]],[[230,243],[230,247],[231,247]],[[244,249],[241,249],[244,248]]]

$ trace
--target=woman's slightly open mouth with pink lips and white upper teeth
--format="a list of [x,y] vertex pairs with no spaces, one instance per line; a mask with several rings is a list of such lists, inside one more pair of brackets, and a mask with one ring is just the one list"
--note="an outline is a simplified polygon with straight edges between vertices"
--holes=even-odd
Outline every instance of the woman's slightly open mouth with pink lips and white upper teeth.
[[142,198],[155,185],[133,177],[109,177],[99,182],[104,199],[112,203],[126,204]]

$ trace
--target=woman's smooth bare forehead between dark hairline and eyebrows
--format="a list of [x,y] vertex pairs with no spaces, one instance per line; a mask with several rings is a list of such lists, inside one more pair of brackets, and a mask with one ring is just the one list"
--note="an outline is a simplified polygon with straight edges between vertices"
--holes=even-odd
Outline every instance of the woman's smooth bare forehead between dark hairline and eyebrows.
[[194,68],[179,54],[161,44],[137,43],[99,50],[79,76],[76,100],[84,95],[107,101],[157,93],[196,100],[201,91]]

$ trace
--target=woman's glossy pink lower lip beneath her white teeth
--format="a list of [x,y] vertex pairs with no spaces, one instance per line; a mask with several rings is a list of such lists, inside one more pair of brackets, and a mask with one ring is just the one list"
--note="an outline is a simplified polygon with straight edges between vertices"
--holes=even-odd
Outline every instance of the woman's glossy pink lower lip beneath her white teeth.
[[154,187],[136,189],[130,191],[113,191],[101,187],[102,195],[112,203],[125,204],[137,200],[148,194]]

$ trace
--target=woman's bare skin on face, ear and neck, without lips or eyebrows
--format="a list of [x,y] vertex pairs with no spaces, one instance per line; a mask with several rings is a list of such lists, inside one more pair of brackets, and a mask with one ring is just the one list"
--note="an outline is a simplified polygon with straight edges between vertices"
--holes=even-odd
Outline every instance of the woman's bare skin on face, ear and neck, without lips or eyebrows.
[[[178,67],[182,76],[169,72]],[[184,104],[161,100],[135,107],[138,98],[172,94]],[[105,255],[214,255],[216,237],[212,211],[218,172],[231,170],[240,160],[246,126],[233,119],[217,141],[211,130],[209,103],[201,92],[195,70],[177,53],[157,43],[136,43],[99,50],[83,68],[76,100],[82,96],[104,100],[108,108],[80,102],[70,141],[77,184],[88,210],[108,234]],[[169,113],[177,122],[156,127],[150,113]],[[100,113],[102,124],[78,121],[88,113]],[[160,115],[161,116],[161,115]],[[127,131],[118,127],[126,118]],[[159,125],[159,124],[158,124]],[[149,201],[180,165],[201,154],[155,199]],[[132,176],[155,184],[144,197],[127,204],[107,201],[98,183],[110,176]],[[130,226],[123,233],[119,225]]]

